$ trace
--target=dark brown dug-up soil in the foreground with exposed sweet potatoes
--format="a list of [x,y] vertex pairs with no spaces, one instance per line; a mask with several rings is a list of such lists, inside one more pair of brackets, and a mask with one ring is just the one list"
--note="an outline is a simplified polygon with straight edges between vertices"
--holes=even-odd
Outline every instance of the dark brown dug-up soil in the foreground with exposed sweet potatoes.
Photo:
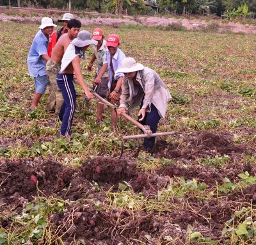
[[[127,155],[120,159],[94,157],[79,168],[68,168],[40,157],[13,162],[1,160],[0,211],[22,212],[26,203],[33,202],[39,189],[45,197],[68,200],[65,211],[49,217],[49,223],[58,230],[65,244],[79,244],[78,241],[82,242],[80,244],[140,244],[138,241],[147,243],[148,236],[150,244],[159,244],[159,237],[162,237],[161,244],[168,244],[164,240],[168,236],[177,239],[173,244],[185,244],[188,225],[204,237],[224,244],[221,230],[225,222],[234,210],[255,202],[256,185],[222,198],[221,194],[218,198],[202,200],[191,193],[182,198],[175,196],[166,202],[166,210],[161,212],[145,207],[133,212],[122,207],[112,208],[113,196],[107,193],[117,193],[119,184],[123,183],[145,200],[156,200],[157,191],[177,177],[194,178],[198,184],[204,182],[209,191],[216,182],[223,184],[224,177],[237,182],[239,173],[248,171],[255,175],[255,164],[236,164],[243,158],[242,153],[251,152],[252,149],[243,144],[234,145],[228,132],[201,131],[182,135],[182,144],[179,145],[159,140],[154,157],[172,158],[175,162],[164,165],[157,173],[141,172]],[[215,167],[197,162],[202,157],[217,154],[228,155],[229,161]],[[172,203],[177,208],[173,209]],[[1,220],[0,225],[8,228],[12,220]]]

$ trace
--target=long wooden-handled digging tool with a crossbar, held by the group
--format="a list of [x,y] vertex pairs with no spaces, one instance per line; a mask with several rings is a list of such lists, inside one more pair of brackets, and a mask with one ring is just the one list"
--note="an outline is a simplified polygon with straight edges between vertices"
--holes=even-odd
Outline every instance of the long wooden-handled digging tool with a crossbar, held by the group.
[[[99,99],[103,104],[106,104],[106,106],[112,107],[114,109],[117,108],[114,104],[111,104],[108,100],[103,99],[95,91],[91,90],[91,93],[93,93],[93,95],[95,97],[97,97],[97,99]],[[156,136],[167,136],[167,135],[175,134],[175,132],[173,132],[173,131],[171,131],[171,132],[156,132],[156,133],[152,133],[152,131],[150,130],[150,127],[148,125],[142,125],[140,122],[134,120],[131,116],[127,115],[126,113],[122,113],[121,115],[124,116],[124,118],[126,118],[127,120],[129,120],[132,124],[137,126],[139,129],[141,129],[144,134],[136,134],[136,135],[130,135],[130,136],[123,136],[123,138],[122,138],[122,151],[121,151],[121,154],[120,154],[120,158],[122,157],[122,154],[124,152],[124,143],[128,139],[151,138],[151,137],[156,137]]]

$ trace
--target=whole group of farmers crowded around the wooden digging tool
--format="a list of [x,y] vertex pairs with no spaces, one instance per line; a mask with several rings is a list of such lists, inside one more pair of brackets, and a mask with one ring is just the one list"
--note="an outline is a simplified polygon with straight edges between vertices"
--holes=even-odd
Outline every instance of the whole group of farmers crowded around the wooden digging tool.
[[[56,25],[49,17],[42,18],[39,31],[28,54],[28,70],[35,81],[35,94],[30,109],[36,109],[48,86],[50,95],[47,111],[54,111],[61,120],[60,136],[71,136],[71,126],[76,109],[74,81],[83,89],[87,99],[93,93],[84,82],[80,60],[85,59],[85,51],[90,45],[93,56],[88,64],[91,71],[97,61],[97,71],[93,90],[103,99],[116,106],[111,108],[111,129],[115,130],[118,115],[131,113],[139,106],[138,121],[156,132],[160,118],[164,118],[167,102],[171,99],[159,75],[151,68],[137,63],[134,58],[126,58],[119,48],[118,35],[109,35],[106,40],[102,29],[80,31],[81,22],[72,13],[65,13],[63,27],[54,32]],[[103,104],[98,103],[95,120],[102,120]],[[145,138],[143,150],[152,152],[155,138]]]

